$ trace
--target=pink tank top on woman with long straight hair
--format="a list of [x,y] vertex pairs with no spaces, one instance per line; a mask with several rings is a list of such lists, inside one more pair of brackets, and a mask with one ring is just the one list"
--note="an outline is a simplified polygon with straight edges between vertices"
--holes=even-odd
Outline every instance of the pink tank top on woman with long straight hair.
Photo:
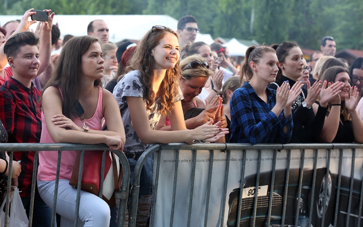
[[[42,118],[42,132],[40,137],[40,143],[54,143],[50,138],[48,129],[45,125],[45,119],[43,111],[41,113]],[[99,87],[98,102],[96,111],[91,119],[85,120],[86,125],[90,129],[101,130],[101,120],[102,115],[102,88]],[[74,120],[74,123],[78,126],[82,126],[83,123],[79,118]],[[62,151],[61,159],[61,170],[59,172],[59,179],[71,179],[74,161],[76,159],[77,151]],[[57,165],[58,151],[39,151],[39,167],[38,167],[38,177],[40,181],[54,181],[56,175],[56,165]]]

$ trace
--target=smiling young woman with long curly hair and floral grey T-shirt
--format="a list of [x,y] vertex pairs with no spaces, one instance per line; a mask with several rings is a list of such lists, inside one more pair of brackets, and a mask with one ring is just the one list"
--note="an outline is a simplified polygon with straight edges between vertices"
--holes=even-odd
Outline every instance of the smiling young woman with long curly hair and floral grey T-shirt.
[[[149,144],[214,142],[228,132],[219,127],[221,122],[212,125],[212,120],[186,132],[179,75],[177,34],[170,28],[153,26],[138,43],[126,74],[120,76],[113,90],[127,131],[124,152],[130,156],[132,169]],[[169,117],[172,131],[154,130],[161,116]],[[145,161],[144,169],[141,178],[147,180],[140,185],[139,208],[146,211],[138,210],[137,223],[140,225],[146,224],[150,212],[152,156]]]

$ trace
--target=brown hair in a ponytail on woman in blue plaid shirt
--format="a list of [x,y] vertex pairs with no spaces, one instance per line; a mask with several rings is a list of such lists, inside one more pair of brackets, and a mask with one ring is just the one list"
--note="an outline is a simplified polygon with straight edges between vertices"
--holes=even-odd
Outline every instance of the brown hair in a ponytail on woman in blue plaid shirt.
[[246,50],[245,60],[242,62],[240,84],[243,82],[243,78],[246,77],[246,81],[250,81],[253,76],[253,71],[251,69],[250,63],[259,63],[260,59],[263,58],[264,54],[267,52],[276,53],[276,51],[268,46],[250,46]]

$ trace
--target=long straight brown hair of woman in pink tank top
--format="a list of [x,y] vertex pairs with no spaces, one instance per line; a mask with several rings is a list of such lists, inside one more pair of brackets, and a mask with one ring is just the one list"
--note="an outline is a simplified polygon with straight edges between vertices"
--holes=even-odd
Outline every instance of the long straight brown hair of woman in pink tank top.
[[[63,96],[62,111],[67,118],[74,117],[72,112],[78,106],[82,83],[82,55],[94,42],[98,42],[98,39],[88,35],[70,39],[64,45],[55,70],[44,87],[43,91],[50,86],[61,89]],[[101,79],[95,80],[93,85],[101,86]]]

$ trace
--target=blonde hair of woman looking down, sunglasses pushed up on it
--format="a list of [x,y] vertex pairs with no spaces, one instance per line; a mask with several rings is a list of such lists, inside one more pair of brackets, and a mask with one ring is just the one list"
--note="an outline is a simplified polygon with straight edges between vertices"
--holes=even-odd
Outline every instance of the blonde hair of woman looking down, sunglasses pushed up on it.
[[[201,55],[193,54],[180,62],[180,69],[184,69],[184,67],[186,67],[189,63],[195,61],[198,61],[200,63],[205,62]],[[213,72],[211,70],[202,66],[198,69],[191,68],[181,71],[181,77],[186,80],[189,80],[192,77],[209,77],[212,74]]]

